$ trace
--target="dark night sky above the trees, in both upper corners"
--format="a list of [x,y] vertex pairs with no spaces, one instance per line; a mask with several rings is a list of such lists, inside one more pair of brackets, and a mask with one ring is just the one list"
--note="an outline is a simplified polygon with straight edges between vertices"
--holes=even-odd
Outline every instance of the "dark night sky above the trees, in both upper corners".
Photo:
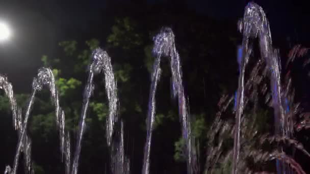
[[[119,0],[118,0],[119,1]],[[156,3],[147,0],[148,3]],[[178,1],[174,1],[177,3]],[[188,0],[189,8],[218,20],[237,21],[248,1]],[[290,37],[308,44],[309,12],[302,1],[254,1],[270,20],[273,37]],[[10,41],[0,43],[0,73],[7,73],[13,84],[31,84],[43,54],[55,55],[57,43],[65,39],[96,38],[94,28],[104,23],[106,1],[13,1],[0,2],[0,20],[13,30]],[[22,88],[21,88],[22,89]]]

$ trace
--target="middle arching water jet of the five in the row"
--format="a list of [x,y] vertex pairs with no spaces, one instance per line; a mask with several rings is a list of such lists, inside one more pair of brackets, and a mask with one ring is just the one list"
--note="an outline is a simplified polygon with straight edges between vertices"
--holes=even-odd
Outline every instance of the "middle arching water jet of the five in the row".
[[[114,72],[111,64],[111,57],[108,53],[100,48],[97,48],[93,51],[92,55],[92,63],[89,67],[89,74],[87,83],[84,90],[83,96],[83,106],[81,113],[81,120],[79,123],[79,131],[76,142],[76,149],[73,158],[72,164],[72,174],[77,173],[77,167],[79,166],[79,157],[81,153],[82,139],[85,131],[85,119],[86,113],[89,106],[89,100],[92,96],[94,84],[93,78],[95,74],[103,73],[105,74],[105,83],[106,83],[106,92],[109,100],[109,115],[107,118],[107,142],[108,145],[111,145],[112,135],[114,133],[115,123],[118,121],[117,107],[118,107],[118,98],[117,98],[117,85],[114,77]],[[122,135],[122,134],[121,134]],[[124,154],[122,153],[122,156]],[[122,164],[117,164],[122,165]],[[121,171],[123,172],[123,171]]]

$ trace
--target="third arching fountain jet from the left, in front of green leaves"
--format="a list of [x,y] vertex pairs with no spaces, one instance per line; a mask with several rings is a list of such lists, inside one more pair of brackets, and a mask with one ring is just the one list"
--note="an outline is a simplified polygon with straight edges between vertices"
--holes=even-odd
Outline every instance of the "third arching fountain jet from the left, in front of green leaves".
[[[107,119],[107,142],[108,145],[111,146],[111,143],[113,144],[112,147],[112,172],[113,173],[127,173],[129,172],[129,161],[124,155],[124,147],[123,147],[123,124],[121,122],[121,130],[117,134],[119,136],[118,142],[111,142],[112,135],[114,133],[114,125],[115,123],[119,122],[119,119],[117,117],[117,108],[118,108],[118,98],[117,98],[117,92],[116,92],[116,81],[114,78],[114,72],[111,65],[111,57],[108,55],[108,53],[100,48],[97,48],[92,53],[92,63],[90,64],[89,68],[89,74],[88,79],[84,91],[84,99],[83,99],[83,106],[82,106],[82,114],[81,114],[81,120],[79,123],[79,131],[78,131],[78,137],[76,142],[76,149],[74,153],[73,158],[73,164],[72,164],[72,174],[77,173],[77,167],[79,166],[79,157],[81,153],[81,144],[82,144],[82,138],[83,134],[85,132],[85,119],[86,119],[86,113],[89,106],[89,100],[93,93],[93,77],[94,74],[98,74],[101,71],[105,74],[105,82],[106,82],[106,92],[109,100],[109,116]],[[117,149],[115,153],[115,149]]]

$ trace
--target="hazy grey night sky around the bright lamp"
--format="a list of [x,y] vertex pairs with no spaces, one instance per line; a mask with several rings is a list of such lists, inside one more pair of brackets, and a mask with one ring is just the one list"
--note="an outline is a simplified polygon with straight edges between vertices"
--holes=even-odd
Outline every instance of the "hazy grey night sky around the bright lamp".
[[41,56],[54,55],[59,41],[83,36],[95,22],[104,22],[100,15],[104,8],[105,3],[94,0],[1,1],[0,20],[10,25],[13,34],[8,42],[0,43],[0,72],[13,84],[29,84],[30,88]]

